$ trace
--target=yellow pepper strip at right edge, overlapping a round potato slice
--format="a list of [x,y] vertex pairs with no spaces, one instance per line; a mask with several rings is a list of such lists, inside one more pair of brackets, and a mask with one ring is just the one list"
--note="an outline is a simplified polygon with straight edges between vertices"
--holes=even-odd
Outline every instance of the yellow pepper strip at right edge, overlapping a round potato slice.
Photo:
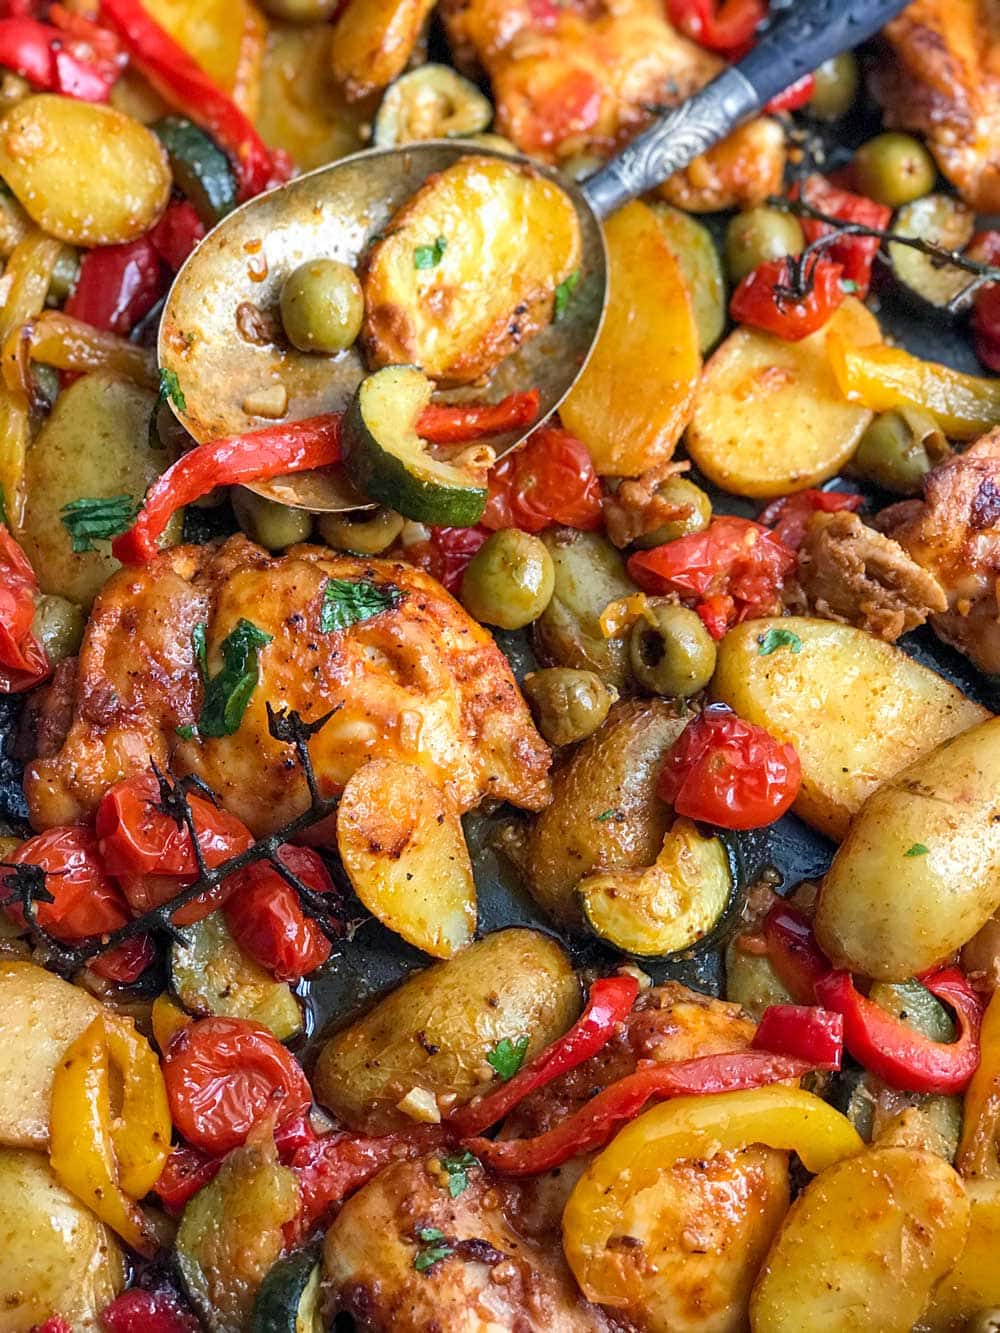
[[844,397],[872,412],[920,408],[953,440],[1000,425],[1000,380],[921,361],[897,347],[855,347],[840,333],[828,335],[827,355]]

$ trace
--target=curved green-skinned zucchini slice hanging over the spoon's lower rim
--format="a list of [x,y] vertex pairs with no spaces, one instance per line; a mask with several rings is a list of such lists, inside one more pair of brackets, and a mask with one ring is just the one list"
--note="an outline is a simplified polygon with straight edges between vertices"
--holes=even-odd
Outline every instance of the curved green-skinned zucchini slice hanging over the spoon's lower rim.
[[473,461],[436,459],[416,432],[431,401],[431,381],[412,365],[387,365],[363,380],[344,417],[344,467],[369,499],[407,519],[469,528],[487,504],[488,449]]

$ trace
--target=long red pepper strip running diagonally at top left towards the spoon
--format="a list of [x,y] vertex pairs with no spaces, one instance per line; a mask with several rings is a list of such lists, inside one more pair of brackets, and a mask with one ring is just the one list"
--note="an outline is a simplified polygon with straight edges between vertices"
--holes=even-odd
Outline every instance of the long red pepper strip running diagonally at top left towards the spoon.
[[100,9],[164,101],[200,125],[229,155],[240,200],[252,199],[288,179],[284,157],[271,152],[236,103],[139,0],[100,0]]

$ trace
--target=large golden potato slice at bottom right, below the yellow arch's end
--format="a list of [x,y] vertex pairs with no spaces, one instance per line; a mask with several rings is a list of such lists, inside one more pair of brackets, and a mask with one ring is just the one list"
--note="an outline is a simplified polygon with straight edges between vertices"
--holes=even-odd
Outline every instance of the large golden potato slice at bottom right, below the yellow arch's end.
[[792,1205],[753,1288],[753,1333],[909,1333],[965,1244],[969,1204],[943,1158],[872,1148]]

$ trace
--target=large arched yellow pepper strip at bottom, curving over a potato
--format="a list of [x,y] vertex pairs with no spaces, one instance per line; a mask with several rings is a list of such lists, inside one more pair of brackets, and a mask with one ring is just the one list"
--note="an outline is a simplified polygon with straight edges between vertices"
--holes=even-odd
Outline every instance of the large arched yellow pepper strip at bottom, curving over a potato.
[[753,1144],[793,1150],[813,1173],[864,1148],[845,1116],[801,1088],[771,1085],[653,1106],[591,1162],[563,1213],[565,1256],[588,1300],[612,1306],[623,1301],[613,1238],[640,1190],[653,1188],[673,1162],[704,1161]]

